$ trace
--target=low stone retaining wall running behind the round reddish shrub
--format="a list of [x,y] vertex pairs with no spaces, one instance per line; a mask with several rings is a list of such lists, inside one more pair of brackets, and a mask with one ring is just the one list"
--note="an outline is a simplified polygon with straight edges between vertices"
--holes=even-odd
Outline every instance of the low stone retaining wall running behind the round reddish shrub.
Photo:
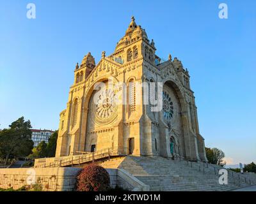
[[[3,168],[0,169],[0,188],[19,189],[29,184],[40,184],[42,191],[74,191],[76,176],[81,168]],[[106,169],[111,187],[129,191],[148,191],[149,186],[140,182],[127,171]]]

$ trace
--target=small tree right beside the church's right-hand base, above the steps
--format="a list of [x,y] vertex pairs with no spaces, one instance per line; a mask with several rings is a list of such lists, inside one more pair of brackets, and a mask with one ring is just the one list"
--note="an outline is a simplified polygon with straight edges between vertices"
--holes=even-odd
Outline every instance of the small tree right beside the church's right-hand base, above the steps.
[[225,153],[217,148],[207,148],[205,147],[206,157],[209,163],[217,164],[220,166],[224,166],[226,162],[223,160],[225,157]]

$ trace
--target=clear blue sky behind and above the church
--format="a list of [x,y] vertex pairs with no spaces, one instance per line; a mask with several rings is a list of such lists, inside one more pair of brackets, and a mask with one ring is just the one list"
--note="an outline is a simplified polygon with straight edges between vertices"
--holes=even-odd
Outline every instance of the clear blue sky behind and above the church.
[[[128,3],[129,2],[129,3]],[[193,3],[192,3],[193,2]],[[36,19],[26,18],[35,3]],[[218,18],[227,3],[228,19]],[[0,128],[57,129],[76,62],[113,52],[134,15],[157,55],[189,69],[200,133],[230,163],[256,158],[256,1],[0,1]]]

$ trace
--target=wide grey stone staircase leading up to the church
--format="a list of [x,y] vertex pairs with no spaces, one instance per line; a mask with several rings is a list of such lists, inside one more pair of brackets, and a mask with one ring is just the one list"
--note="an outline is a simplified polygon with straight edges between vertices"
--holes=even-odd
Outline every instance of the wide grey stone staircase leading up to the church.
[[99,165],[128,171],[150,186],[150,191],[230,191],[251,184],[251,181],[228,171],[228,184],[221,185],[218,175],[220,166],[159,156],[115,157]]

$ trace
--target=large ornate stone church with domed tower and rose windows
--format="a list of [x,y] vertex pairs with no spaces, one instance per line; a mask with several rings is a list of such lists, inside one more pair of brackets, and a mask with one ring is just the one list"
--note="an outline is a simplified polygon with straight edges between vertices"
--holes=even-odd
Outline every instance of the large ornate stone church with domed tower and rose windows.
[[[89,52],[77,63],[56,157],[118,147],[133,156],[207,161],[188,70],[177,57],[163,62],[155,52],[132,17],[113,54],[102,52],[95,64]],[[159,110],[145,96],[161,99]]]

